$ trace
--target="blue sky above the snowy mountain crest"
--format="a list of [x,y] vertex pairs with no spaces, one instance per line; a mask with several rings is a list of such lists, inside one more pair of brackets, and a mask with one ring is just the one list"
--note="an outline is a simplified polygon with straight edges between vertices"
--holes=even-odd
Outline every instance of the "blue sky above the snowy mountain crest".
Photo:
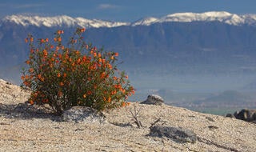
[[134,22],[180,12],[228,11],[256,14],[256,0],[2,0],[0,18],[10,14],[38,14]]

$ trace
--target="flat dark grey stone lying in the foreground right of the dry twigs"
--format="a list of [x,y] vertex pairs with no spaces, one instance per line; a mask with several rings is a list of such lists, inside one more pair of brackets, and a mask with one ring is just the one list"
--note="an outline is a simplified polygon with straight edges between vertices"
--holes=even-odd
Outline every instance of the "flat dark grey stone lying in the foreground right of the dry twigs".
[[153,126],[150,128],[151,136],[158,136],[162,138],[173,138],[179,142],[195,143],[197,141],[197,135],[192,130],[181,127],[173,126]]

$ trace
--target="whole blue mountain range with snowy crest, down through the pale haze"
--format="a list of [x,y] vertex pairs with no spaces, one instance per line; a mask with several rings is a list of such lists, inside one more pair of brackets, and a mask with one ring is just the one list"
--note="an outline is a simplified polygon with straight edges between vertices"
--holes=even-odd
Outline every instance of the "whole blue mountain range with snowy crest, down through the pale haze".
[[[85,40],[118,51],[135,86],[147,89],[237,89],[256,75],[256,15],[206,12],[168,14],[135,22],[15,14],[0,21],[0,77],[19,83],[28,58],[27,34],[67,39],[78,26]],[[217,85],[219,83],[219,85]]]

